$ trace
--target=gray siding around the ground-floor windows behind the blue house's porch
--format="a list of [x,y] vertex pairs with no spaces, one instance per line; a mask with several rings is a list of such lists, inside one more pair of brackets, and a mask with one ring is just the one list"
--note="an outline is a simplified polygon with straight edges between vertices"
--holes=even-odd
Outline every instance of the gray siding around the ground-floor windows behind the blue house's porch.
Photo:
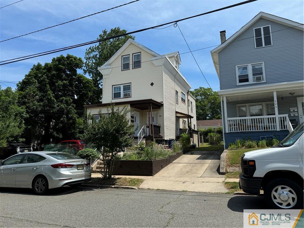
[[[260,99],[260,100],[247,100],[247,101],[237,101],[237,102],[227,102],[227,118],[233,118],[237,117],[237,105],[242,105],[242,104],[251,104],[251,103],[263,103],[263,102],[273,102],[273,98],[269,99]],[[224,102],[223,102],[224,106]],[[289,119],[295,119],[298,121],[299,124],[299,116],[290,116],[290,108],[295,108],[297,107],[297,97],[284,97],[283,100],[281,98],[278,98],[278,114],[279,115],[284,115],[288,114]],[[224,109],[223,109],[224,112]],[[224,120],[224,125],[223,129],[226,130],[226,125],[225,125],[225,115],[223,113],[223,120]]]

